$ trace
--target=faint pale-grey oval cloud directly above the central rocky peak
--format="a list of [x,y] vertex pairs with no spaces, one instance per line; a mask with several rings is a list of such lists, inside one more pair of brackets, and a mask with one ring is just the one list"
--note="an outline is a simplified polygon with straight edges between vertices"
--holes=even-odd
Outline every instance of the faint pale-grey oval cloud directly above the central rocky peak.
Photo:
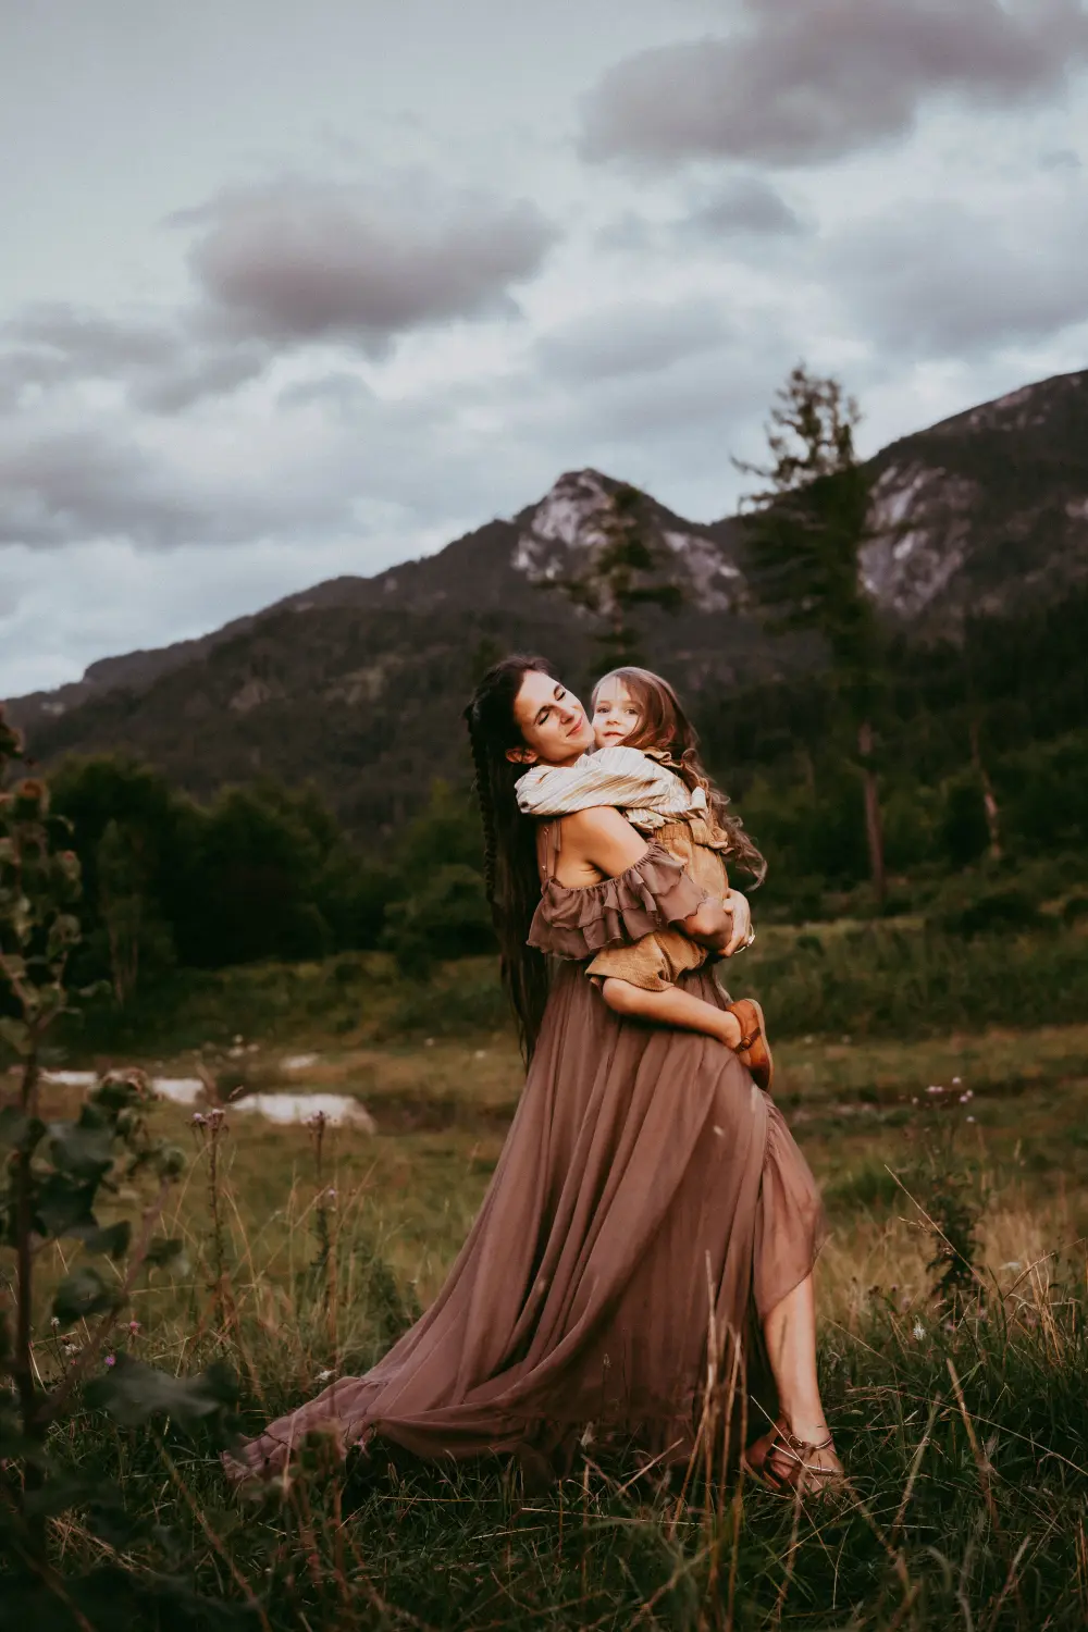
[[714,349],[728,338],[724,315],[713,300],[631,300],[574,318],[540,339],[535,356],[545,374],[577,384],[656,374],[692,353]]

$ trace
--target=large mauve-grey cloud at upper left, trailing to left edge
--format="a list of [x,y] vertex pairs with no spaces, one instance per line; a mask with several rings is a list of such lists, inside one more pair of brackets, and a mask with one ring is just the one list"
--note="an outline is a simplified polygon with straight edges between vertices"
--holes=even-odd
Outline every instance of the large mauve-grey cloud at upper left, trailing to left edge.
[[514,313],[511,286],[556,230],[527,202],[400,194],[287,180],[175,215],[196,227],[196,302],[168,317],[31,307],[0,328],[0,410],[29,388],[121,385],[132,406],[176,415],[261,375],[277,349],[352,341],[372,356],[424,323]]

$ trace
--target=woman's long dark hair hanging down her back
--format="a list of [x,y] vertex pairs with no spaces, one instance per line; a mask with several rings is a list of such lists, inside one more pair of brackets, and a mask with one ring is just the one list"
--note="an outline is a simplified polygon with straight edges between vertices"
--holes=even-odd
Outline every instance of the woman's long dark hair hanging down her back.
[[502,658],[488,669],[465,708],[483,821],[488,904],[525,1064],[533,1056],[548,1000],[548,965],[542,951],[525,945],[540,901],[537,823],[517,808],[514,783],[525,765],[512,764],[506,751],[525,746],[514,703],[532,672],[558,677],[545,658],[520,653]]

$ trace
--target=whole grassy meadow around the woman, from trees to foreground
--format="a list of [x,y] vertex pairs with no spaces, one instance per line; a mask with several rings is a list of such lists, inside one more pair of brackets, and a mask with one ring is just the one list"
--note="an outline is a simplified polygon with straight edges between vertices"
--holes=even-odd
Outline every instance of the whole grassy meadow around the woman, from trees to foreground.
[[[713,1431],[687,1480],[636,1477],[592,1444],[545,1495],[498,1464],[329,1479],[313,1446],[285,1485],[238,1500],[199,1438],[82,1412],[57,1433],[170,1528],[175,1555],[148,1541],[109,1559],[65,1518],[59,1557],[173,1570],[199,1594],[189,1619],[173,1598],[148,1609],[148,1590],[101,1625],[210,1627],[209,1599],[276,1632],[1088,1624],[1086,951],[1078,925],[953,942],[840,924],[760,930],[729,969],[781,1038],[776,1100],[830,1217],[820,1371],[840,1500],[719,1479]],[[186,976],[109,1033],[88,1015],[51,1064],[121,1061],[202,1075],[223,1113],[152,1106],[189,1152],[163,1221],[188,1268],[135,1294],[116,1346],[181,1373],[227,1359],[245,1431],[367,1368],[434,1296],[522,1082],[489,960],[422,986],[382,955]],[[277,1126],[238,1110],[253,1090],[349,1093],[375,1131]],[[78,1090],[46,1097],[70,1113]],[[946,1306],[943,1235],[971,1260]],[[47,1335],[38,1356],[65,1363]]]

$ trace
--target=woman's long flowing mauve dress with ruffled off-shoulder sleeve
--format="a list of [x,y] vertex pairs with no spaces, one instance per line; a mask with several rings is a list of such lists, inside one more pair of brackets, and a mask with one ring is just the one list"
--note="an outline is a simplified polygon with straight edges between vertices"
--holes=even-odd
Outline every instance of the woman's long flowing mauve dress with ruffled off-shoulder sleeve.
[[[600,885],[545,886],[533,938],[566,961],[445,1286],[364,1377],[250,1441],[246,1470],[277,1470],[313,1428],[341,1448],[380,1436],[426,1457],[514,1452],[537,1475],[566,1466],[587,1428],[597,1444],[690,1454],[711,1297],[719,1340],[754,1358],[757,1320],[809,1273],[822,1232],[804,1157],[737,1058],[620,1018],[584,974],[600,947],[703,899],[659,845]],[[706,968],[679,984],[728,1002]]]

